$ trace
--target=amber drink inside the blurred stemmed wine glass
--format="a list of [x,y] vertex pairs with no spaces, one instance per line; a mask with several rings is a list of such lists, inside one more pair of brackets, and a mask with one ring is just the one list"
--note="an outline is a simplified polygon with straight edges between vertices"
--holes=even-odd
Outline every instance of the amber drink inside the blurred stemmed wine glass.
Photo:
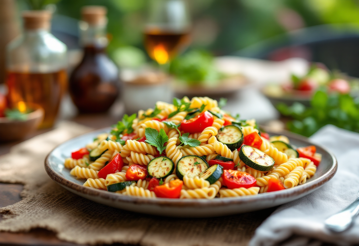
[[184,49],[189,41],[188,31],[173,32],[158,28],[146,29],[144,37],[145,48],[153,60],[165,64]]

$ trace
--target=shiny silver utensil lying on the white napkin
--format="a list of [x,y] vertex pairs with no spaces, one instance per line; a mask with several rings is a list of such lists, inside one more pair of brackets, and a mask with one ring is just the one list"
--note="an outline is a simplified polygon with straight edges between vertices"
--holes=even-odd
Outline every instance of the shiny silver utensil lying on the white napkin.
[[325,220],[325,226],[334,232],[344,232],[349,229],[359,214],[359,193],[356,200],[344,210],[332,215]]

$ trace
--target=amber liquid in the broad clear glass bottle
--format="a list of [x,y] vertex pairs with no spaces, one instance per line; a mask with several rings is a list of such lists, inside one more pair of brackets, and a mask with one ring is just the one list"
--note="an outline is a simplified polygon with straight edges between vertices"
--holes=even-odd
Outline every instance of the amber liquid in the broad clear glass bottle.
[[11,107],[17,106],[20,101],[39,105],[45,110],[40,127],[52,127],[67,85],[65,69],[52,73],[8,71],[6,83]]

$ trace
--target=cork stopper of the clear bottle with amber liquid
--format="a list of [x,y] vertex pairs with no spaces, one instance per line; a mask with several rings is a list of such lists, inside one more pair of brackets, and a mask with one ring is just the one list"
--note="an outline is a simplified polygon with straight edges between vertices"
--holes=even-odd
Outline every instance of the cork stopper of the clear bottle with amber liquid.
[[50,29],[51,12],[47,10],[26,10],[22,12],[25,29]]

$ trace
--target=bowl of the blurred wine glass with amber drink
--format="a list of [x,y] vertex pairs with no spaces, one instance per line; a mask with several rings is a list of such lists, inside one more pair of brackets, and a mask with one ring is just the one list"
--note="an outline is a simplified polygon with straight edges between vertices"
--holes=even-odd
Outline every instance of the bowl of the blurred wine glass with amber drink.
[[144,29],[145,48],[151,59],[163,65],[190,42],[190,18],[184,0],[150,0]]

